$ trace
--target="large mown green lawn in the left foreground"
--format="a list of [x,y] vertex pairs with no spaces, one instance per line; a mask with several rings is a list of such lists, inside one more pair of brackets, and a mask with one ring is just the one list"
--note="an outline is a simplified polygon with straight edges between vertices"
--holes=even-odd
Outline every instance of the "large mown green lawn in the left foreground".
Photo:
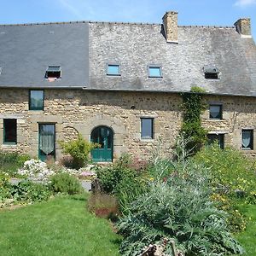
[[0,212],[0,254],[119,255],[120,237],[105,219],[87,211],[88,195]]

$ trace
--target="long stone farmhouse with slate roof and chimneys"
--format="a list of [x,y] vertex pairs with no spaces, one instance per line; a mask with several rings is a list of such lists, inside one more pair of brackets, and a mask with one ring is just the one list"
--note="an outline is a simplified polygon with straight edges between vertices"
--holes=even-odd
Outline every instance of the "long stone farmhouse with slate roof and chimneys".
[[95,161],[124,152],[169,154],[181,92],[206,90],[202,124],[221,147],[255,154],[256,47],[250,19],[235,26],[61,22],[0,26],[0,149],[61,157],[81,133]]

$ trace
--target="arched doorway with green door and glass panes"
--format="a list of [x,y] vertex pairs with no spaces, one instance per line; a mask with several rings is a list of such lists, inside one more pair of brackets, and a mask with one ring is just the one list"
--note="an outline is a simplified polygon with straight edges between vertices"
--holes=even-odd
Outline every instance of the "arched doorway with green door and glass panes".
[[90,142],[98,147],[91,150],[91,158],[96,162],[113,160],[113,131],[107,126],[98,126],[90,134]]

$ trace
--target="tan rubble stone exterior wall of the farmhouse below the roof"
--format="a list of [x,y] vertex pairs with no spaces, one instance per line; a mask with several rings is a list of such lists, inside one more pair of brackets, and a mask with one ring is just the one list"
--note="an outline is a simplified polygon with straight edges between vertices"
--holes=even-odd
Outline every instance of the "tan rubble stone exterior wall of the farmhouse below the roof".
[[[28,110],[28,90],[2,89],[1,92],[0,147],[32,156],[38,156],[38,124],[42,123],[55,124],[56,158],[59,159],[61,140],[77,137],[78,132],[90,140],[90,132],[98,125],[113,129],[114,158],[123,152],[148,158],[159,144],[161,152],[172,154],[182,122],[182,98],[178,94],[44,90],[44,111],[31,111]],[[207,110],[202,114],[202,124],[209,132],[224,133],[225,145],[241,148],[241,129],[256,129],[256,98],[206,96],[206,101],[223,103],[223,119],[210,120]],[[154,118],[153,140],[141,139],[142,117]],[[3,119],[10,118],[17,119],[16,145],[3,144]],[[245,153],[255,155],[256,151]]]

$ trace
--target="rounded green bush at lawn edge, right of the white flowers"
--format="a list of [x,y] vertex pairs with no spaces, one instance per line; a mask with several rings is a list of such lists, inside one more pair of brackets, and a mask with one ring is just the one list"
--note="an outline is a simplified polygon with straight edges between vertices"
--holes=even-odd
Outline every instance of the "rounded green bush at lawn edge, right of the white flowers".
[[79,194],[83,191],[79,180],[68,173],[58,173],[50,177],[49,187],[56,193],[70,195]]

